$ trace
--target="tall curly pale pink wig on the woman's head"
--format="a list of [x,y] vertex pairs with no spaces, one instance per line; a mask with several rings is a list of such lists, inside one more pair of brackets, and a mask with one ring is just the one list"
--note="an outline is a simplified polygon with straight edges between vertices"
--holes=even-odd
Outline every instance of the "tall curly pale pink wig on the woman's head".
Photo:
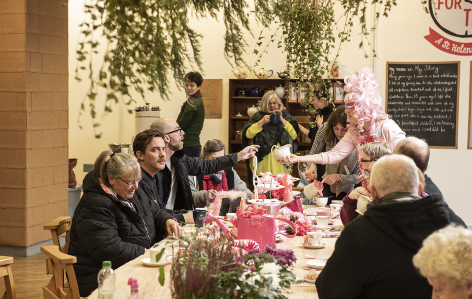
[[375,81],[370,68],[361,68],[352,76],[344,79],[344,91],[346,97],[344,102],[346,106],[354,105],[354,117],[357,118],[357,125],[347,125],[349,130],[364,132],[364,123],[371,121],[368,135],[373,134],[376,119],[387,119],[388,115],[384,112],[382,99],[379,95],[380,85]]

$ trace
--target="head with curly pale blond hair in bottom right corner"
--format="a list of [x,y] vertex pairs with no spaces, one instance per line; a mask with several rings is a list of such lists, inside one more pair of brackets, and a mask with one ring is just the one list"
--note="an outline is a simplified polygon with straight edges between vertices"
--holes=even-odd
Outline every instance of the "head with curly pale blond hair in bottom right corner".
[[430,234],[413,265],[433,287],[433,299],[472,298],[472,231],[448,225]]

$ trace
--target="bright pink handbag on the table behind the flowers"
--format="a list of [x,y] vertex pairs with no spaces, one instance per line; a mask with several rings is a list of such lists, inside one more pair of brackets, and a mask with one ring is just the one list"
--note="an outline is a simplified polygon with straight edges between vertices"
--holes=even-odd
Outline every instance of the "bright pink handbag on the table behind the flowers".
[[[252,214],[249,217],[239,216],[237,224],[238,239],[255,241],[261,249],[268,244],[275,245],[275,235],[278,233],[278,225],[273,217],[261,216],[253,212],[245,212],[243,215]],[[287,222],[294,228],[293,234],[280,233],[288,238],[296,236],[296,226],[293,222],[277,218],[278,221]]]

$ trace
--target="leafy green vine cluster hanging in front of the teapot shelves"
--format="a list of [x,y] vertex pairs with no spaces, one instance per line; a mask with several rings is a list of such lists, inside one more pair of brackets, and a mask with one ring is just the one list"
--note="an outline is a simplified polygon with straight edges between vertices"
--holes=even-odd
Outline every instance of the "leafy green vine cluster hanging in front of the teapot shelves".
[[[387,17],[392,6],[396,6],[396,0],[372,0],[369,4],[366,0],[338,0],[344,8],[342,17],[335,20],[333,4],[336,0],[282,0],[279,4],[278,28],[270,34],[269,41],[265,43],[264,49],[260,49],[263,44],[262,30],[259,41],[253,50],[257,54],[257,65],[260,58],[270,43],[275,42],[276,36],[280,35],[278,47],[283,47],[287,53],[287,69],[292,70],[297,79],[297,86],[300,91],[305,91],[305,97],[301,99],[301,105],[310,116],[314,116],[317,111],[312,107],[310,94],[318,92],[326,94],[328,101],[333,98],[329,90],[329,83],[324,77],[336,78],[333,67],[336,66],[336,59],[343,42],[349,42],[351,31],[354,25],[354,18],[358,18],[361,25],[361,42],[359,48],[364,48],[364,41],[370,47],[367,39],[369,35],[366,24],[366,10],[371,5],[376,11],[376,20],[380,13]],[[379,4],[379,5],[376,5]],[[334,29],[338,34],[335,36]],[[337,48],[337,50],[336,50]],[[371,49],[372,50],[372,49]],[[335,52],[336,51],[336,52]],[[373,51],[373,50],[372,50]],[[333,54],[334,59],[333,59]],[[367,51],[364,50],[367,57]],[[375,51],[372,55],[375,57]],[[332,60],[329,60],[331,57]],[[309,117],[310,119],[310,117]],[[315,125],[314,122],[311,125]]]

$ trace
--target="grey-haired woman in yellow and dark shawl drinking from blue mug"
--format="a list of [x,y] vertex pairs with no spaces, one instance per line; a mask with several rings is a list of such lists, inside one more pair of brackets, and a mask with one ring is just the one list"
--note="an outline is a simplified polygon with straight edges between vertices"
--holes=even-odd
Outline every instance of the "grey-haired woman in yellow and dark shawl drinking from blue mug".
[[[259,102],[261,111],[254,113],[244,126],[242,139],[243,147],[249,144],[261,146],[256,153],[257,172],[270,172],[273,174],[285,173],[285,168],[277,160],[270,150],[273,145],[290,144],[290,152],[295,153],[298,148],[298,123],[284,108],[282,100],[275,91],[267,91]],[[277,122],[271,122],[270,116],[277,114]],[[252,177],[252,158],[246,161]],[[249,174],[249,172],[248,172]],[[250,189],[253,189],[252,180],[249,180]]]

